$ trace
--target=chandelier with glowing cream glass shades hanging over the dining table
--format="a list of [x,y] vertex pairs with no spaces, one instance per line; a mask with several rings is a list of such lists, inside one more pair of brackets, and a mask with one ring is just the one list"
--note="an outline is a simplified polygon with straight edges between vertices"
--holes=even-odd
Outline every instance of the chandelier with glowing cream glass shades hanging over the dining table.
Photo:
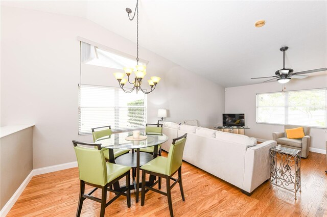
[[[115,76],[115,78],[118,80],[119,82],[119,86],[121,89],[123,89],[123,91],[125,93],[131,93],[133,92],[133,90],[136,90],[136,93],[138,91],[142,91],[145,94],[151,93],[152,91],[154,91],[156,85],[158,84],[159,80],[161,79],[160,77],[156,77],[153,76],[151,77],[151,79],[148,80],[148,83],[151,87],[150,91],[145,91],[142,89],[141,85],[142,85],[142,80],[144,78],[144,76],[147,74],[146,73],[146,66],[145,65],[138,65],[138,0],[136,2],[136,7],[135,7],[135,11],[134,11],[134,15],[132,18],[130,18],[130,14],[132,13],[132,10],[130,8],[126,8],[126,12],[128,14],[128,19],[130,21],[132,21],[135,17],[135,13],[136,13],[136,61],[137,61],[137,65],[135,66],[135,68],[132,67],[124,67],[124,71],[125,73],[122,72],[115,72],[113,73],[113,75]],[[130,82],[129,80],[129,76],[132,74],[132,72],[135,73],[135,78],[133,82]],[[124,78],[125,74],[127,75],[127,79]],[[126,90],[124,89],[124,85],[126,83],[129,83],[131,85],[133,85],[133,88],[130,90]]]

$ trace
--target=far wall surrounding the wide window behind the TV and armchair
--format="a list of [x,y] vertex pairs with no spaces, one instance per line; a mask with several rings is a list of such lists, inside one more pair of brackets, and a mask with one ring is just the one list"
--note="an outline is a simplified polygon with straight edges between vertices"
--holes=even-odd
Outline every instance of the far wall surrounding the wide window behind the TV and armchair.
[[[314,88],[326,88],[327,76],[317,75],[305,79],[292,79],[286,84],[286,90],[305,90]],[[282,91],[282,85],[277,82],[256,84],[240,87],[226,88],[226,113],[245,113],[245,124],[251,129],[246,129],[245,134],[264,140],[272,139],[272,132],[283,132],[283,125],[256,123],[256,93],[269,93]],[[325,150],[327,140],[326,129],[311,128],[311,147]],[[319,151],[319,150],[316,150]]]

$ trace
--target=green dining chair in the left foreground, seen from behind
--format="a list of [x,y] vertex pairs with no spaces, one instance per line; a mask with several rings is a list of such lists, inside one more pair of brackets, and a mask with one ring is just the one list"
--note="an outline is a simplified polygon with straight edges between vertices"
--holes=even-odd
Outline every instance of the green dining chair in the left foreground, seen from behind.
[[[87,198],[101,203],[100,216],[104,216],[106,207],[121,195],[127,198],[127,207],[131,206],[130,198],[130,167],[111,164],[106,162],[101,144],[82,143],[73,140],[74,149],[77,157],[77,164],[80,178],[80,194],[76,216],[81,215],[83,201]],[[96,146],[94,148],[86,148],[83,146]],[[119,182],[120,179],[126,177],[126,187],[122,187],[120,191],[114,191],[108,187]],[[85,184],[95,187],[90,193],[85,194]],[[91,196],[98,188],[101,188],[101,199]],[[108,203],[107,191],[116,194]],[[126,192],[126,193],[125,193]]]

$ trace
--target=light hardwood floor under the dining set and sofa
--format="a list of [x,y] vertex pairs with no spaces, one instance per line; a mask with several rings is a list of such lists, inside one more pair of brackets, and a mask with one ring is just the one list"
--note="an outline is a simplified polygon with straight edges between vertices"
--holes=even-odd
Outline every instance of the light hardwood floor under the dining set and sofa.
[[[163,154],[167,156],[167,153]],[[185,202],[179,187],[172,190],[175,216],[327,216],[327,169],[325,155],[310,152],[301,159],[302,193],[294,194],[266,181],[252,196],[240,189],[183,162],[182,178]],[[165,191],[165,182],[162,189]],[[87,190],[89,190],[87,188]],[[98,190],[99,191],[99,190]],[[87,191],[86,191],[87,192]],[[7,216],[75,216],[79,194],[78,168],[38,175],[21,194]],[[94,193],[100,197],[101,192]],[[108,199],[113,194],[108,195]],[[81,216],[99,216],[100,203],[86,199]],[[149,192],[145,205],[135,203],[131,208],[120,197],[106,208],[106,216],[169,216],[167,198]]]

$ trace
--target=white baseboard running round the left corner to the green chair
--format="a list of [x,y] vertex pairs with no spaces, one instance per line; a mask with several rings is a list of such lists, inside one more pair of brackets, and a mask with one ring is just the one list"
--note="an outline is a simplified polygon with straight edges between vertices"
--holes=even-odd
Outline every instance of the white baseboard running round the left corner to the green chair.
[[30,172],[30,174],[26,177],[26,179],[18,187],[17,191],[13,194],[13,196],[9,199],[9,201],[5,204],[5,206],[0,210],[0,216],[6,216],[8,214],[10,209],[13,207],[13,205],[18,200],[21,193],[24,191],[25,187],[28,185],[28,183],[33,178],[33,176],[37,176],[37,175],[41,175],[41,174],[45,174],[45,173],[56,172],[59,170],[65,170],[65,169],[74,168],[74,167],[77,167],[77,161],[32,170]]

